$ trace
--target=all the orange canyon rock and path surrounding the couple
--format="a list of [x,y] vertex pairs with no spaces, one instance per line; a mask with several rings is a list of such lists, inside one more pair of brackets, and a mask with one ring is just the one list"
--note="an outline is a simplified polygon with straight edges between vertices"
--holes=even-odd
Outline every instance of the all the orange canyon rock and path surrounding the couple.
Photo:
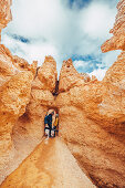
[[[0,31],[11,21],[11,3],[0,3]],[[38,66],[0,44],[0,188],[124,188],[124,7],[121,0],[113,36],[102,45],[122,52],[102,81],[79,73],[72,59],[58,79],[51,55]],[[46,139],[52,111],[59,136]]]

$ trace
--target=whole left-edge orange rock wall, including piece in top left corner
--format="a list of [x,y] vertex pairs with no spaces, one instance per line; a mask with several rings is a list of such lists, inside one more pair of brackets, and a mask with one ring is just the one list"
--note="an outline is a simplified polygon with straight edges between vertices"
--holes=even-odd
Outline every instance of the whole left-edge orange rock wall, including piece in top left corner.
[[[0,1],[0,32],[11,20],[10,4],[10,0]],[[25,112],[32,80],[32,73],[17,69],[11,52],[0,44],[0,181],[14,156],[12,128]]]

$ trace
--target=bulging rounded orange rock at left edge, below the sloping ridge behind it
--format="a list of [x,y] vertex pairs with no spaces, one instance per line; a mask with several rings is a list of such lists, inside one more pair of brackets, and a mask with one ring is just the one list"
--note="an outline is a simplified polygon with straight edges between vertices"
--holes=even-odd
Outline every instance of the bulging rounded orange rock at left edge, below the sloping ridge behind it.
[[4,169],[14,154],[12,128],[19,116],[25,112],[32,79],[30,72],[20,72],[0,87],[0,170]]

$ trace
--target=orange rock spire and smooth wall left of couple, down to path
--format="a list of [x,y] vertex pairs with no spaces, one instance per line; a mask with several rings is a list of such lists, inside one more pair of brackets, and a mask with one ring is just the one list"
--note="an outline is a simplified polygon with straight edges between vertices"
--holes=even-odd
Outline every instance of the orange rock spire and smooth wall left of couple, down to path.
[[[48,61],[41,67],[37,67],[33,75],[34,80],[31,86],[29,104],[25,106],[25,112],[20,116],[12,129],[12,140],[14,150],[14,163],[11,160],[9,168],[3,171],[4,177],[14,170],[18,165],[34,149],[34,147],[43,139],[44,134],[44,116],[50,108],[55,107],[54,96],[51,92],[55,91],[56,84],[56,63],[52,58],[45,58]],[[35,70],[35,64],[34,67]],[[54,67],[54,69],[53,69]],[[39,70],[42,70],[39,73]],[[32,72],[31,66],[23,69],[25,72]],[[44,76],[46,72],[50,83],[49,86],[44,81],[40,81],[39,76]],[[51,82],[51,77],[53,77]],[[46,85],[46,86],[45,86]],[[10,163],[9,163],[10,164]]]

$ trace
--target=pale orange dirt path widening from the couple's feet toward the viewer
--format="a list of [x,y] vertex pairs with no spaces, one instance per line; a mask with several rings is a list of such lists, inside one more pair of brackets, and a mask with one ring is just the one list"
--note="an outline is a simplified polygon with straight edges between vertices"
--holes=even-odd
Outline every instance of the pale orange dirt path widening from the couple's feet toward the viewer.
[[94,188],[60,138],[42,142],[1,188]]

